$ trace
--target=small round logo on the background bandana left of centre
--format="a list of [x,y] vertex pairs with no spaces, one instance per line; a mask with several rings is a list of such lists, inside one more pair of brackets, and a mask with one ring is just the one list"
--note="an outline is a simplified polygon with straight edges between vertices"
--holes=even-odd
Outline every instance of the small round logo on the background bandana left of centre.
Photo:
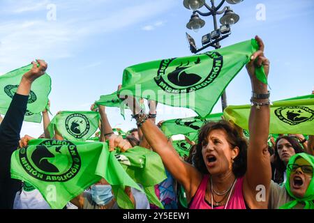
[[70,114],[66,117],[66,130],[76,139],[81,139],[89,132],[89,118],[84,114]]

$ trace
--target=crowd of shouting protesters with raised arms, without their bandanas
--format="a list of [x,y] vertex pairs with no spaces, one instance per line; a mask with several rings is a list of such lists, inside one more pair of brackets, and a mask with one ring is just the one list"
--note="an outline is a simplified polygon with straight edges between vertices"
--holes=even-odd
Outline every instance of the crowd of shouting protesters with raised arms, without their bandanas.
[[[131,95],[119,95],[126,100],[137,123],[137,128],[130,130],[125,139],[114,134],[105,107],[92,105],[91,110],[100,114],[100,141],[108,141],[110,151],[119,148],[124,152],[142,146],[158,153],[167,178],[155,190],[166,209],[314,208],[313,136],[307,140],[302,134],[281,134],[276,141],[272,138],[269,146],[269,90],[267,84],[255,77],[255,68],[264,66],[268,76],[270,65],[264,56],[262,40],[255,39],[260,50],[246,65],[252,91],[257,95],[251,98],[248,140],[229,121],[210,122],[202,126],[197,141],[186,139],[191,146],[190,154],[180,157],[172,140],[165,137],[159,123],[156,125],[156,102],[149,101],[149,114],[145,114]],[[0,118],[0,208],[50,208],[32,185],[10,177],[12,153],[33,139],[29,136],[21,139],[20,130],[31,84],[46,69],[45,61],[33,62],[33,68],[22,77],[6,116]],[[50,137],[49,123],[45,109],[44,133],[40,137]],[[54,139],[63,140],[63,137],[56,131]],[[265,195],[261,199],[257,199],[259,188]],[[158,208],[149,203],[144,192],[133,187],[126,187],[125,192],[137,209]],[[64,208],[117,209],[119,206],[112,187],[103,178]]]

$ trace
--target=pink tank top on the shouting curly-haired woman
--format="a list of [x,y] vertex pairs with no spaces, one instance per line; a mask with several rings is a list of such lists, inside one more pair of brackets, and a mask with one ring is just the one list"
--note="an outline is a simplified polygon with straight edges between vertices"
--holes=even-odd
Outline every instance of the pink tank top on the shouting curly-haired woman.
[[[234,193],[230,197],[230,201],[227,204],[226,209],[246,209],[246,203],[242,193],[244,177],[238,178],[237,183],[234,185]],[[207,183],[209,181],[209,175],[205,175],[202,178],[202,182],[195,193],[190,209],[211,209],[209,203],[205,201],[205,192]],[[214,209],[224,209],[225,206],[218,206]]]

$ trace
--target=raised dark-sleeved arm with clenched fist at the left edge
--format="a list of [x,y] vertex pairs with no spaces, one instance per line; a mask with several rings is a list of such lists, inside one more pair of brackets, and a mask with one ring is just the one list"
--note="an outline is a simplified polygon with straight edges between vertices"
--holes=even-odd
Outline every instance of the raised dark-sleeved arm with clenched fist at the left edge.
[[43,60],[33,61],[32,64],[33,68],[23,75],[0,125],[0,208],[13,208],[15,194],[21,187],[19,180],[10,178],[10,158],[19,144],[31,85],[38,77],[44,75],[47,69],[47,63]]

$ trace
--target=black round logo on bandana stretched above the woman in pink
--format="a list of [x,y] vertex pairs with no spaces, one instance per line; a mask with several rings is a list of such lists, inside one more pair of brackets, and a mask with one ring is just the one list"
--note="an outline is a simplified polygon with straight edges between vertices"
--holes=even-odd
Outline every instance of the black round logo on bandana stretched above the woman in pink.
[[189,93],[214,82],[222,68],[223,56],[218,52],[207,52],[187,59],[166,59],[160,62],[154,80],[168,93]]

